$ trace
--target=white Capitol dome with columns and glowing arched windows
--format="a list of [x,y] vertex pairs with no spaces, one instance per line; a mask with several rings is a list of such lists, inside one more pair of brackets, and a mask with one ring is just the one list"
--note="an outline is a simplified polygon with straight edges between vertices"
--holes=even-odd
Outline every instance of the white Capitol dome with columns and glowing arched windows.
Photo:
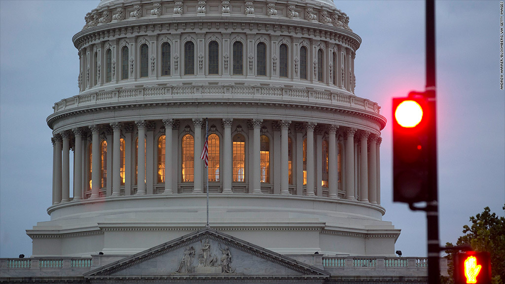
[[276,253],[394,256],[386,119],[355,95],[348,23],[329,0],[100,1],[73,37],[79,93],[47,118],[53,204],[27,231],[33,256],[174,240],[206,225],[207,191],[213,229]]

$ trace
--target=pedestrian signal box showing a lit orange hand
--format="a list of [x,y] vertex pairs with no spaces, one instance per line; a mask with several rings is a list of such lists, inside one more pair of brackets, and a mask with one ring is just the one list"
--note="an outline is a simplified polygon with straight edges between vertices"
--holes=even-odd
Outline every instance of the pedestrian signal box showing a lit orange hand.
[[464,252],[454,257],[454,284],[490,284],[491,258],[488,252]]

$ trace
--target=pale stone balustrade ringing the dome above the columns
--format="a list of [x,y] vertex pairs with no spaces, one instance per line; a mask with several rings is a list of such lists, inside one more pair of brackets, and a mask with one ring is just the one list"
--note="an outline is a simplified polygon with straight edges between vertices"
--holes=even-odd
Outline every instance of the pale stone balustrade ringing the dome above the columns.
[[[195,95],[205,97],[194,98]],[[265,86],[163,86],[139,87],[119,90],[105,90],[86,93],[56,103],[54,112],[72,110],[78,107],[89,107],[107,103],[160,103],[160,100],[187,102],[189,97],[194,101],[203,100],[243,101],[248,99],[272,100],[275,103],[327,103],[331,106],[345,106],[379,114],[380,107],[367,99],[350,94],[339,94],[330,91],[311,89],[292,89]],[[205,98],[205,99],[204,99]],[[156,102],[155,102],[156,101]]]

